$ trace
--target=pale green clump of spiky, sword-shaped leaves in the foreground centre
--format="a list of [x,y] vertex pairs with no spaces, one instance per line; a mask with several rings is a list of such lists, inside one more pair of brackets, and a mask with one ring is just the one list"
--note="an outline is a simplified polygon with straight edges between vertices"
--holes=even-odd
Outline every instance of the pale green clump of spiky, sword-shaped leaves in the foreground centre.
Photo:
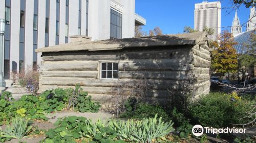
[[172,121],[164,123],[162,117],[144,118],[142,121],[127,120],[110,121],[109,127],[117,131],[120,139],[136,142],[152,142],[152,139],[162,137],[172,131]]

